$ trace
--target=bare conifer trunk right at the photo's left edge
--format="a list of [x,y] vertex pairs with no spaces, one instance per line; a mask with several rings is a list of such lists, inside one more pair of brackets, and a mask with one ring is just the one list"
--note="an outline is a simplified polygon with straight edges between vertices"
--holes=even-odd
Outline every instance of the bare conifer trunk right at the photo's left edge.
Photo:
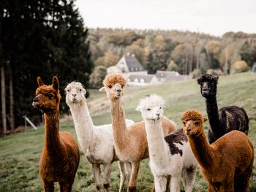
[[7,132],[7,114],[6,114],[6,100],[5,100],[5,77],[4,64],[1,66],[1,118],[3,134]]

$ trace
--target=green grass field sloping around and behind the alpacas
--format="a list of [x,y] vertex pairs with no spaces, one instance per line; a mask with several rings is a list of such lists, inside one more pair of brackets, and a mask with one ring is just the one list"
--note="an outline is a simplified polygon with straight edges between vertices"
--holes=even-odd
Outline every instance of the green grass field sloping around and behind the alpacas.
[[[180,82],[173,85],[158,85],[148,88],[128,87],[124,91],[124,109],[127,118],[135,121],[141,120],[139,112],[135,111],[140,98],[148,93],[157,93],[165,99],[165,116],[174,120],[178,128],[181,128],[181,114],[185,110],[200,110],[206,115],[205,99],[200,96],[200,87],[195,80]],[[94,97],[95,96],[95,97]],[[64,96],[62,96],[64,99]],[[226,105],[238,105],[244,107],[249,115],[249,138],[256,147],[256,74],[250,72],[220,77],[217,91],[219,108]],[[97,105],[98,104],[98,105]],[[99,105],[100,104],[100,105]],[[110,123],[110,112],[105,93],[90,92],[90,110],[94,123]],[[99,106],[103,112],[97,112]],[[98,110],[99,111],[99,110]],[[205,124],[207,130],[208,123]],[[75,129],[72,120],[61,120],[61,131],[69,131],[75,137]],[[44,140],[44,128],[38,131],[26,131],[20,134],[0,138],[0,191],[42,191],[42,183],[39,178],[39,155]],[[255,150],[256,154],[256,150]],[[256,191],[256,161],[254,164],[250,191]],[[118,191],[119,172],[115,162],[111,172],[110,191]],[[140,164],[138,177],[138,191],[151,191],[153,176],[148,167],[148,160]],[[56,190],[59,191],[58,185]],[[94,177],[84,155],[80,155],[80,166],[75,177],[72,191],[96,191]],[[207,191],[206,181],[200,172],[197,172],[193,191]]]

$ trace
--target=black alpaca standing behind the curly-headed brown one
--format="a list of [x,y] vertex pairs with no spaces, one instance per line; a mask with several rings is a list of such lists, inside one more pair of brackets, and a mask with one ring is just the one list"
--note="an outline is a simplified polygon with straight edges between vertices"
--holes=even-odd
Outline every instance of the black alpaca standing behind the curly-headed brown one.
[[200,92],[206,98],[206,110],[210,124],[210,128],[208,128],[210,144],[232,130],[248,134],[249,129],[249,118],[244,108],[227,106],[218,111],[216,99],[218,79],[219,77],[214,77],[211,74],[204,74],[197,80],[200,85]]

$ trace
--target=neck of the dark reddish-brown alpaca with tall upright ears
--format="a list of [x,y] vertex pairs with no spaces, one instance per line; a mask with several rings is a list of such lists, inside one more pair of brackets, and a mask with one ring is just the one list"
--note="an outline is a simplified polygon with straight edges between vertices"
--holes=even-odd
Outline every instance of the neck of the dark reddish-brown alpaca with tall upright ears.
[[47,114],[45,113],[45,147],[48,153],[54,155],[60,153],[59,138],[59,110]]

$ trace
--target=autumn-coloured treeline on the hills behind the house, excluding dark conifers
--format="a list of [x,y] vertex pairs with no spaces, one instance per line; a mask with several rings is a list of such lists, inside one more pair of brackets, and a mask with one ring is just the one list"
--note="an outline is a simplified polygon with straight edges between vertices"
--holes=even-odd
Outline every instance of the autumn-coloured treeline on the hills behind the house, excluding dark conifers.
[[189,31],[91,28],[89,39],[95,66],[115,65],[131,53],[151,74],[175,70],[196,77],[209,69],[230,74],[246,71],[256,61],[256,34],[243,32],[220,38]]

